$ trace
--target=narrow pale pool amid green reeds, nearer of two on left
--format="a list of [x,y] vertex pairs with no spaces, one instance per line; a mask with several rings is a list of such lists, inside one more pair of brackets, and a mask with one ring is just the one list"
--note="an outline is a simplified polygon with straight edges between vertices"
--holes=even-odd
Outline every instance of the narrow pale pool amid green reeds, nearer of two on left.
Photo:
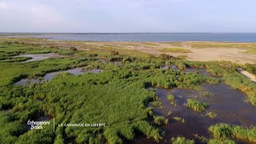
[[82,75],[82,74],[85,74],[86,72],[98,74],[98,73],[102,72],[102,70],[99,70],[99,69],[95,69],[95,70],[82,70],[82,68],[77,67],[75,69],[58,71],[58,72],[53,72],[53,73],[46,74],[43,77],[43,79],[39,79],[39,78],[38,79],[22,78],[22,80],[20,80],[18,82],[15,82],[15,84],[16,85],[25,85],[26,83],[27,84],[29,84],[29,83],[43,83],[43,82],[49,81],[51,78],[56,77],[57,74],[65,73],[65,72],[68,72],[71,75]]

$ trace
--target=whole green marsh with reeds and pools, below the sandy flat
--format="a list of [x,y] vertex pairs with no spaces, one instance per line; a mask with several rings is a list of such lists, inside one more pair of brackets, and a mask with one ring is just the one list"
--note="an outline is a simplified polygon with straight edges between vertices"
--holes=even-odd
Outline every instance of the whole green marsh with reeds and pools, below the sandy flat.
[[256,142],[254,63],[59,43],[0,38],[0,143]]

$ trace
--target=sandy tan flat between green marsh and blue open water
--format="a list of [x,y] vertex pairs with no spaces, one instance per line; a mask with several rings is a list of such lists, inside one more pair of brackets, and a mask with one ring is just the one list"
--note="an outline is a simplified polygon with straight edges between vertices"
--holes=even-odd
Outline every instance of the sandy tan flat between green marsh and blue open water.
[[130,53],[170,54],[189,61],[230,61],[238,64],[256,63],[256,43],[248,42],[82,42],[54,41],[41,38],[0,38],[1,41],[40,43],[42,46],[58,46],[67,49],[75,46],[78,50],[98,52],[118,50]]

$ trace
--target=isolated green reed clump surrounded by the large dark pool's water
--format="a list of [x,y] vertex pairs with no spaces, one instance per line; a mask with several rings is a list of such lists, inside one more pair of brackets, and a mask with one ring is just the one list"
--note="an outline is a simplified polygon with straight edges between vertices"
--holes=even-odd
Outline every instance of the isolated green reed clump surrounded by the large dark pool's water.
[[207,107],[210,106],[210,104],[206,102],[200,102],[195,99],[188,99],[187,102],[184,103],[184,106],[189,107],[194,111],[202,112],[206,110]]

